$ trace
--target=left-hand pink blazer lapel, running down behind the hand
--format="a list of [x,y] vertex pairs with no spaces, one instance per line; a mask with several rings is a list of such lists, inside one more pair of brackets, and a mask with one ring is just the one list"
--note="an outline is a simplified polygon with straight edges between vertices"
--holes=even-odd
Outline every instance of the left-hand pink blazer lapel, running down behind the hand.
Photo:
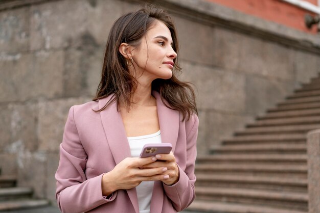
[[[99,100],[99,109],[103,108],[110,98],[109,96]],[[110,151],[116,164],[119,164],[124,158],[131,157],[131,152],[121,114],[117,110],[117,102],[113,102],[107,109],[101,111],[100,116]],[[127,193],[135,212],[139,212],[135,188],[127,190]]]

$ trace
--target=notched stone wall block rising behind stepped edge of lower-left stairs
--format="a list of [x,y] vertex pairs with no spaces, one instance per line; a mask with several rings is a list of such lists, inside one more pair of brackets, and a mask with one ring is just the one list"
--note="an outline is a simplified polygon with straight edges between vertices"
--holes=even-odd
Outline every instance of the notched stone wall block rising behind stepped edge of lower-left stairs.
[[47,155],[23,152],[18,155],[18,187],[31,187],[35,198],[45,198]]

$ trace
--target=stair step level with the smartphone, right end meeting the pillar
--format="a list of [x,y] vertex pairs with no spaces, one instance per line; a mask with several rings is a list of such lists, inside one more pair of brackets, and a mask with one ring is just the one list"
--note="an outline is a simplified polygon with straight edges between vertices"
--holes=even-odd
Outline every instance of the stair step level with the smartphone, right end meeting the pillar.
[[223,153],[223,154],[234,154],[234,153],[307,153],[306,143],[303,144],[241,144],[241,145],[224,145],[224,146],[213,146],[211,153]]

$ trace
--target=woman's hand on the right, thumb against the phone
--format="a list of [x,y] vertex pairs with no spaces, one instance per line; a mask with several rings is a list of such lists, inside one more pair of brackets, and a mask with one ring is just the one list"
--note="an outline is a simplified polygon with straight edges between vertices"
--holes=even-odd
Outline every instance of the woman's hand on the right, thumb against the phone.
[[179,169],[175,162],[175,157],[173,152],[171,151],[169,154],[157,154],[155,155],[157,158],[156,162],[151,164],[147,164],[143,166],[144,168],[158,168],[158,167],[166,167],[168,170],[163,173],[163,181],[167,185],[173,185],[179,180]]

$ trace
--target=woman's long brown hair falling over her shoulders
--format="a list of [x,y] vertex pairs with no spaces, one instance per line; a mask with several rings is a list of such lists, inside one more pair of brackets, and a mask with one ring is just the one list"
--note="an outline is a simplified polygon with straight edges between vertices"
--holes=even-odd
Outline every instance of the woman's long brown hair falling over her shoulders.
[[[97,90],[95,101],[109,95],[113,97],[100,109],[106,109],[113,101],[121,101],[129,108],[131,94],[136,89],[136,79],[130,74],[128,64],[119,52],[121,43],[132,46],[139,46],[141,38],[145,36],[155,20],[162,21],[167,25],[173,40],[173,50],[178,53],[178,39],[175,26],[171,17],[162,9],[154,5],[146,5],[143,9],[121,16],[113,24],[104,55],[101,81]],[[182,114],[182,120],[190,118],[192,113],[197,114],[195,93],[190,83],[181,82],[175,73],[181,72],[177,58],[174,60],[174,69],[170,79],[155,79],[152,82],[152,90],[159,92],[162,101],[173,110],[178,110]],[[166,101],[167,103],[166,103]],[[119,105],[119,104],[118,104]]]

